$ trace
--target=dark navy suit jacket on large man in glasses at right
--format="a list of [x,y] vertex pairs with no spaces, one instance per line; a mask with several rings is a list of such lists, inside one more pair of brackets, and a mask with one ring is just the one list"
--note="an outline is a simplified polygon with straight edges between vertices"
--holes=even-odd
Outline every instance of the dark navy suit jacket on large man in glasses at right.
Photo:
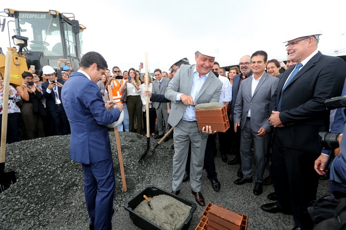
[[[269,113],[277,111],[282,88],[295,66],[286,70],[271,98]],[[289,149],[320,153],[319,132],[329,130],[330,112],[324,101],[341,95],[346,77],[346,63],[338,57],[318,52],[292,78],[283,92],[280,120],[285,127],[282,144]],[[275,130],[274,130],[275,135]]]

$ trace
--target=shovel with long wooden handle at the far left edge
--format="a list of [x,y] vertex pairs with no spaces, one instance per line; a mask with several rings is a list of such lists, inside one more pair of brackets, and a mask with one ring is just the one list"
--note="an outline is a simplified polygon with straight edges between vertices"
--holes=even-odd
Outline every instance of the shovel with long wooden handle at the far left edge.
[[[4,88],[3,95],[7,95],[2,99],[2,105],[8,105],[8,93],[9,93],[9,78],[11,70],[11,52],[6,52],[5,60],[5,79],[4,79]],[[6,153],[6,135],[7,135],[7,116],[8,116],[8,107],[3,106],[2,108],[2,123],[1,123],[1,148],[0,148],[0,193],[4,192],[9,188],[11,184],[14,184],[17,179],[15,177],[15,172],[5,172],[5,153]]]

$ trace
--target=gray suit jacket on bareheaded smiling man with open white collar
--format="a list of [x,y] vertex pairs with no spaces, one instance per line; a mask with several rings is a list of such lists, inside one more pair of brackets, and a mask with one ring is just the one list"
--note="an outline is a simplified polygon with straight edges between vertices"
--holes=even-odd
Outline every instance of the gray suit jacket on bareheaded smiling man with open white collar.
[[253,77],[243,80],[237,95],[236,105],[234,107],[234,123],[240,122],[241,129],[244,128],[246,118],[251,109],[251,128],[258,132],[263,127],[267,132],[271,125],[268,121],[269,104],[271,96],[275,93],[278,78],[264,73],[257,85],[254,95],[251,96],[251,84]]

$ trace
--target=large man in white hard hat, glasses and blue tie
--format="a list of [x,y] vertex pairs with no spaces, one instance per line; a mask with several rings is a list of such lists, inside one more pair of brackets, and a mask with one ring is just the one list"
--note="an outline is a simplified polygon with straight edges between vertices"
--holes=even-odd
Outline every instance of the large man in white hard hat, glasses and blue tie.
[[283,73],[269,106],[274,126],[272,179],[278,201],[261,209],[292,213],[294,230],[314,227],[307,208],[316,199],[318,173],[324,173],[328,158],[321,155],[318,134],[329,130],[330,112],[324,101],[341,95],[346,76],[344,60],[317,51],[320,35],[297,34],[286,41],[288,56],[297,64]]

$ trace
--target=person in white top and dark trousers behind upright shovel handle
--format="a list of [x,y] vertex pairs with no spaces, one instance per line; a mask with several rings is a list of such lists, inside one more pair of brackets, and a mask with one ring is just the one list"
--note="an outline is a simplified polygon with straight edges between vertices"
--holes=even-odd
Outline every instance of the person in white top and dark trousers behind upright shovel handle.
[[[150,76],[150,74],[149,74]],[[142,112],[143,112],[143,126],[144,126],[144,132],[145,134],[147,134],[147,113],[146,113],[146,97],[144,96],[144,90],[145,90],[145,83],[146,83],[146,78],[147,75],[143,75],[143,81],[144,83],[141,85],[141,99],[142,99]],[[149,87],[148,90],[150,92],[152,92],[152,88],[153,88],[153,78],[150,76],[149,77]],[[155,120],[156,120],[156,111],[155,108],[153,106],[153,102],[150,101],[149,98],[149,126],[150,126],[150,132],[152,134],[152,136],[155,136]]]

